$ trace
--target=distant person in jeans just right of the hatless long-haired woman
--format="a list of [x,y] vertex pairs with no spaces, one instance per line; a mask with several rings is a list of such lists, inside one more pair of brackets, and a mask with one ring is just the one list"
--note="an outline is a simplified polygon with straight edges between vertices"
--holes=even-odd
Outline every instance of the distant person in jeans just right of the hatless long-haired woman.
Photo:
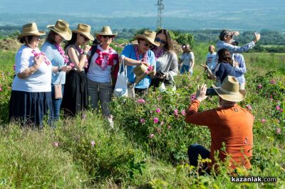
[[193,74],[193,68],[195,65],[195,58],[194,53],[192,52],[190,45],[182,45],[183,53],[180,56],[179,63],[182,64],[180,74],[183,74],[185,72],[189,72],[190,75]]

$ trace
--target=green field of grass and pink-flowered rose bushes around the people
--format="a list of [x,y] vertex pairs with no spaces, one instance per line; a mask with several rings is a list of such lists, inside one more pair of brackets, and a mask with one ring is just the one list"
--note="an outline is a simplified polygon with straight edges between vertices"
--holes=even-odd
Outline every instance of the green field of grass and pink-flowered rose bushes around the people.
[[[0,49],[0,188],[285,188],[282,53],[243,54],[247,97],[239,105],[255,117],[252,169],[230,174],[226,161],[219,162],[217,172],[199,175],[198,168],[188,165],[190,144],[211,144],[207,127],[184,121],[197,85],[213,84],[200,66],[208,45],[193,47],[194,75],[175,77],[175,92],[113,98],[114,129],[101,112],[88,110],[75,118],[61,116],[56,129],[46,118],[39,131],[8,121],[16,50]],[[217,105],[217,96],[208,97],[199,110]],[[200,163],[204,161],[209,160]],[[276,182],[234,183],[232,175],[274,177]]]

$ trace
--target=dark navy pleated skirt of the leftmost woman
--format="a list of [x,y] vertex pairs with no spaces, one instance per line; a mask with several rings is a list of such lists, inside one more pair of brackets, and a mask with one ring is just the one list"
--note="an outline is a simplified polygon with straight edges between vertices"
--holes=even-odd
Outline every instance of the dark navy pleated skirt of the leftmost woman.
[[53,115],[51,92],[24,92],[12,90],[9,104],[9,120],[21,121],[21,126],[43,128],[43,117]]

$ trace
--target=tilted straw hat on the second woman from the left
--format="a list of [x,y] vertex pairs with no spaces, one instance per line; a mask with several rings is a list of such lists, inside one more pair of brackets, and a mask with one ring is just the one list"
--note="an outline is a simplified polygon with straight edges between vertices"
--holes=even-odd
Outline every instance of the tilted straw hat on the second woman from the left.
[[56,25],[48,25],[46,28],[50,28],[52,31],[58,33],[58,35],[63,37],[66,41],[71,40],[72,32],[66,21],[58,20],[56,21]]

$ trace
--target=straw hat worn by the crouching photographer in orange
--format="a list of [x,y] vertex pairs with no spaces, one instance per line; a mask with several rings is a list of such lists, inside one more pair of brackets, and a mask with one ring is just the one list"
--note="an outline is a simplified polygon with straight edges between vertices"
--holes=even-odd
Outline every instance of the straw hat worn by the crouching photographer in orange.
[[242,101],[246,96],[245,90],[239,90],[239,82],[237,81],[237,78],[231,75],[224,78],[221,87],[212,86],[219,97],[230,102]]

